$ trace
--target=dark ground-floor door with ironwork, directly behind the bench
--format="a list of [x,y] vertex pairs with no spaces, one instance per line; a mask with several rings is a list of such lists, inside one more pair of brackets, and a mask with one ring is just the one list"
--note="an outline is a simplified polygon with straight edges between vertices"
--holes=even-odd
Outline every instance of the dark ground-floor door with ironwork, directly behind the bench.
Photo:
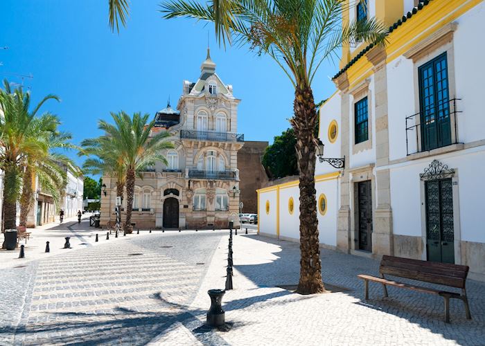
[[427,260],[455,263],[451,178],[426,181],[425,198]]

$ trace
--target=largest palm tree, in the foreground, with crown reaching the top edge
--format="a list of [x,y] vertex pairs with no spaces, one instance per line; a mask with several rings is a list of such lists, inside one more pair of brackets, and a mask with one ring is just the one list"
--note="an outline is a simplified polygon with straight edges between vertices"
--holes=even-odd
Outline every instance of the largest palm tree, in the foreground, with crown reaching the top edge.
[[[360,0],[364,3],[364,0]],[[126,7],[114,7],[113,15],[125,14]],[[290,120],[297,138],[300,190],[300,280],[302,294],[324,291],[315,199],[315,152],[313,134],[317,112],[311,88],[321,62],[333,57],[337,48],[351,40],[385,44],[387,30],[375,19],[346,23],[345,0],[174,0],[161,4],[164,18],[188,17],[215,25],[223,46],[249,44],[278,64],[294,86],[294,116]],[[126,5],[126,3],[125,3]],[[352,6],[355,6],[353,3]],[[112,26],[114,28],[114,26]]]

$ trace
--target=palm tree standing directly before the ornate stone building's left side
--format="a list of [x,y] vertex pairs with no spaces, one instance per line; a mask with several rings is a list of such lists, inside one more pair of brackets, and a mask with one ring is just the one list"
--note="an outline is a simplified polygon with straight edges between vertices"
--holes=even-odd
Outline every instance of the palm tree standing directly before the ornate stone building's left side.
[[[155,120],[148,122],[150,114],[143,116],[141,113],[134,113],[130,117],[124,111],[111,113],[114,124],[109,124],[105,120],[99,120],[98,129],[105,132],[104,136],[97,139],[99,146],[110,152],[118,153],[116,162],[123,166],[126,174],[126,219],[124,230],[132,233],[132,209],[134,183],[136,171],[143,170],[148,165],[153,165],[157,161],[167,164],[162,152],[172,148],[172,143],[166,138],[170,136],[168,131],[160,131],[152,134]],[[151,136],[150,136],[151,135]],[[104,160],[107,156],[101,154]],[[109,161],[104,161],[109,163]]]

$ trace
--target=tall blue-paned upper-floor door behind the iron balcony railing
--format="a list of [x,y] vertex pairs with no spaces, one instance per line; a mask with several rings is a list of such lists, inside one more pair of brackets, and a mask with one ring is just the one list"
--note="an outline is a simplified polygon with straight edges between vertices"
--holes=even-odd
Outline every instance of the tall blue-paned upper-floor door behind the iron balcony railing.
[[446,53],[419,68],[421,145],[431,150],[451,144]]

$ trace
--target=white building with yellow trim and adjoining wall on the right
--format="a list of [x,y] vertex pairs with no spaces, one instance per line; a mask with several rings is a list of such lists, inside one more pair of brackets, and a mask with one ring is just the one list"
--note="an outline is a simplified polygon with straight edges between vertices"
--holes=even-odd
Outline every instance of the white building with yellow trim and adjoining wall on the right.
[[[473,39],[484,14],[475,0],[368,0],[344,12],[345,22],[377,17],[389,35],[385,48],[344,46],[320,110],[324,157],[345,158],[343,170],[317,163],[322,246],[465,264],[485,280],[485,69],[475,62],[485,48]],[[298,198],[297,181],[259,190],[259,231],[298,239]]]

